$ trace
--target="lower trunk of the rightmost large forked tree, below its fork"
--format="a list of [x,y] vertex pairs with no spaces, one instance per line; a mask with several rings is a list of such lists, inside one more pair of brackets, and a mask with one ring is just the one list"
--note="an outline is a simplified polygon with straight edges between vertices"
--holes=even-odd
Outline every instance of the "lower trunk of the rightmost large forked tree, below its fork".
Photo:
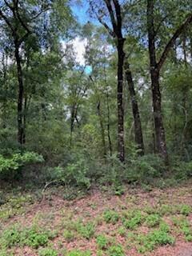
[[156,153],[161,154],[162,158],[168,164],[168,154],[166,150],[166,135],[162,121],[162,99],[159,86],[159,72],[150,70],[151,89],[154,107],[154,129],[155,129],[155,146]]

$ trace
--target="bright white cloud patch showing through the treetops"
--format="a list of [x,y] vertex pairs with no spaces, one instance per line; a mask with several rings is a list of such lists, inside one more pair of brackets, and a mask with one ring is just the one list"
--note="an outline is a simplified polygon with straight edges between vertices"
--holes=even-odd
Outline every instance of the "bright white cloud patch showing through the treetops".
[[[80,65],[84,66],[86,63],[85,53],[86,53],[87,40],[77,37],[68,43],[71,43],[74,46],[74,53],[76,55],[76,61]],[[62,46],[63,46],[63,49],[66,49],[66,42],[63,41]]]

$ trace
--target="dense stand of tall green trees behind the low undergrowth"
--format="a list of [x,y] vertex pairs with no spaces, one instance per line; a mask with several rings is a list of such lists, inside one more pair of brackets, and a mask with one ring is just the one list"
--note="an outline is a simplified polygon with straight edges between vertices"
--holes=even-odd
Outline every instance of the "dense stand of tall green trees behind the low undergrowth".
[[82,3],[0,1],[1,154],[190,162],[192,3],[90,0],[86,24]]

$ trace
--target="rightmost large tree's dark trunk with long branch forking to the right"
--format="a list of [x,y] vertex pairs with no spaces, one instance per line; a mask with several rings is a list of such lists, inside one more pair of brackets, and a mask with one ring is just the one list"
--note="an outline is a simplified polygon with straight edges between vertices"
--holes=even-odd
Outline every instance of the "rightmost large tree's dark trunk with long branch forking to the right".
[[[166,134],[163,126],[162,120],[162,95],[160,91],[159,77],[160,71],[171,48],[174,46],[175,40],[182,34],[182,31],[189,26],[192,22],[192,14],[190,14],[185,22],[174,31],[174,35],[170,38],[169,42],[166,44],[165,49],[162,51],[162,55],[157,60],[157,32],[154,29],[154,0],[147,0],[147,30],[148,30],[148,40],[149,40],[149,54],[150,54],[150,78],[151,78],[151,90],[153,98],[153,108],[154,108],[154,129],[155,129],[155,148],[158,154],[162,155],[165,162],[168,164],[168,154],[166,149]],[[161,25],[161,24],[160,24]]]

